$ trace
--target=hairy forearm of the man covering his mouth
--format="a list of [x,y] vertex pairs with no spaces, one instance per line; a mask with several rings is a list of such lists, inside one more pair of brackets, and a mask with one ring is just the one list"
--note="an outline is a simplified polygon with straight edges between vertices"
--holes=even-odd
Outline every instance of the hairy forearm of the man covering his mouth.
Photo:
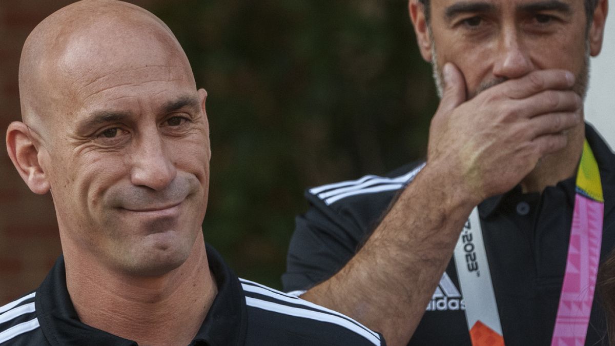
[[427,164],[352,260],[302,298],[407,344],[477,203],[438,171]]

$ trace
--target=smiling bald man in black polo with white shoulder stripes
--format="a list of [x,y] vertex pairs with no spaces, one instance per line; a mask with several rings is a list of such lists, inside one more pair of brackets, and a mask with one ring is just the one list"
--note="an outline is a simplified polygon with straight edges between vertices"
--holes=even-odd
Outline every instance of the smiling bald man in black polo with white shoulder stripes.
[[207,92],[140,7],[71,4],[23,47],[10,159],[50,192],[63,256],[0,307],[1,345],[383,345],[344,315],[238,279],[206,246]]

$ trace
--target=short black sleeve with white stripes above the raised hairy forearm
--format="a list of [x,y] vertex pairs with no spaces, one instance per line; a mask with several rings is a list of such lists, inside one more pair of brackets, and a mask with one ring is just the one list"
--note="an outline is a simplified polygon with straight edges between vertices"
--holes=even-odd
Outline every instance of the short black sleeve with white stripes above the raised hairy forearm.
[[346,265],[421,164],[408,164],[384,177],[365,175],[306,190],[310,208],[296,217],[282,275],[284,291],[301,294]]

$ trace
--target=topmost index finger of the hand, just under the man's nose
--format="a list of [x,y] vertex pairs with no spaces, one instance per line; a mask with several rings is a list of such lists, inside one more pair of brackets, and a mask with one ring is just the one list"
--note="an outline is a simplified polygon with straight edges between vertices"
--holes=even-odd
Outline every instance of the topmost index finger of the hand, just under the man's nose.
[[501,85],[502,92],[510,99],[525,99],[549,89],[565,90],[574,86],[574,74],[566,70],[536,70],[522,78],[510,79]]

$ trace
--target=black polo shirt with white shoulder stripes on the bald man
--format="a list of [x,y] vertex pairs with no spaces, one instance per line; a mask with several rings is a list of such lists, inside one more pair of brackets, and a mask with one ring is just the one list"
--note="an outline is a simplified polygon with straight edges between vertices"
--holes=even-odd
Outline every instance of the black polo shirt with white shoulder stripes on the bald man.
[[[341,313],[241,280],[207,246],[218,295],[190,345],[385,345]],[[194,292],[199,294],[199,292]],[[36,291],[0,307],[0,345],[137,345],[79,321],[60,257]]]

